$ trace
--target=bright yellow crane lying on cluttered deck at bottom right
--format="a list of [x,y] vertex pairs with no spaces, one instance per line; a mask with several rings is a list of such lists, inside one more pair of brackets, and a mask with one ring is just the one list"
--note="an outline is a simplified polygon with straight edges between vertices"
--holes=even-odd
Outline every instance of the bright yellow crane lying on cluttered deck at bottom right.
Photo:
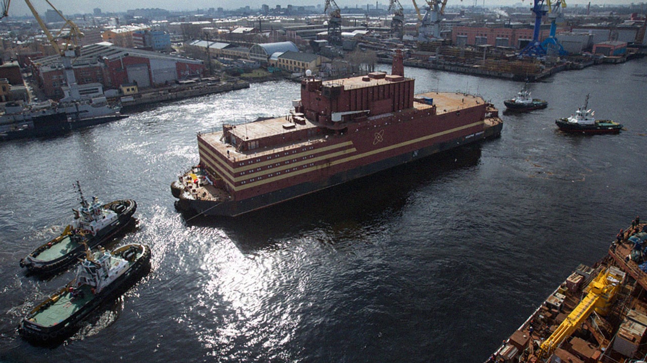
[[600,271],[598,276],[586,287],[586,296],[580,301],[573,311],[564,319],[562,324],[555,329],[553,334],[543,341],[537,353],[537,360],[549,357],[553,351],[573,334],[578,327],[596,311],[606,315],[613,298],[620,290],[624,281],[624,272],[615,267]]

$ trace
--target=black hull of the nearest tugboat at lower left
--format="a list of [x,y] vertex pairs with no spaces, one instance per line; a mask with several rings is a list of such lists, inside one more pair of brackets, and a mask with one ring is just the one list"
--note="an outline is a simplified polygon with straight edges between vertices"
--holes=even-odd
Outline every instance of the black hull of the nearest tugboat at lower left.
[[79,322],[85,319],[90,313],[98,309],[113,298],[126,293],[142,276],[150,270],[151,251],[144,245],[144,253],[133,264],[126,273],[96,294],[92,300],[78,309],[72,316],[69,316],[53,327],[41,327],[32,324],[28,318],[24,318],[18,327],[20,335],[34,344],[58,344],[71,336],[79,328]]

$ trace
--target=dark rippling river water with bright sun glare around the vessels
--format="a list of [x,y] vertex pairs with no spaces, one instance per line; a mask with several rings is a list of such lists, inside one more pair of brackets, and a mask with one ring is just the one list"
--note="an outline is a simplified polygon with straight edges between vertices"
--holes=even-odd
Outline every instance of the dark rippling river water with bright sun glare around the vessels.
[[[280,116],[287,81],[157,105],[46,140],[0,143],[2,362],[483,362],[578,264],[647,218],[647,59],[530,85],[549,107],[505,114],[501,137],[240,218],[178,213],[169,185],[198,161],[195,133]],[[388,68],[384,68],[388,69]],[[520,82],[406,68],[416,92],[477,93],[503,110]],[[618,135],[554,119],[591,94]],[[36,347],[17,324],[73,277],[18,265],[60,233],[72,183],[137,200],[153,269],[76,335]]]

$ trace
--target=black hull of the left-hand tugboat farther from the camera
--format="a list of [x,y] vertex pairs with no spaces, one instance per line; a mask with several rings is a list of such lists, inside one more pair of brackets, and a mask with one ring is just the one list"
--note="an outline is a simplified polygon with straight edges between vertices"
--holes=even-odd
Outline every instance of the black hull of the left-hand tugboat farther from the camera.
[[[134,200],[124,200],[115,201],[109,203],[108,205],[119,202],[129,203],[130,206],[119,214],[119,218],[114,225],[105,227],[104,229],[101,229],[96,234],[96,236],[87,238],[87,246],[89,248],[92,249],[98,245],[106,244],[133,223],[133,214],[135,214],[135,211],[137,210],[137,203]],[[43,246],[39,248],[42,247]],[[78,258],[82,257],[83,254],[85,254],[85,247],[83,245],[80,245],[76,249],[65,254],[65,256],[61,256],[56,260],[50,261],[38,260],[38,258],[36,257],[38,256],[38,254],[36,254],[36,251],[38,251],[38,249],[30,253],[29,256],[23,258],[20,261],[21,267],[26,267],[29,273],[36,275],[54,275],[67,269],[70,265],[78,262]]]

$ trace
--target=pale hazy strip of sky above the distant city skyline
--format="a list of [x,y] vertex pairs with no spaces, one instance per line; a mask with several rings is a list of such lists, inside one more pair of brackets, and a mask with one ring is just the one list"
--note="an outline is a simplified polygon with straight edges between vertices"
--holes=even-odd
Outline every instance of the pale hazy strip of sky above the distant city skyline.
[[[410,7],[410,0],[399,0],[400,4],[404,7]],[[335,0],[336,4],[340,8],[344,7],[353,7],[356,6],[366,6],[366,5],[375,5],[375,1],[358,1],[358,0]],[[45,14],[45,12],[50,9],[50,6],[43,0],[32,0],[32,5],[36,8],[39,14]],[[252,9],[258,9],[262,4],[267,4],[270,8],[276,7],[276,5],[281,5],[281,7],[286,7],[287,5],[294,6],[304,6],[304,5],[322,5],[325,3],[324,0],[261,0],[261,1],[250,1],[250,0],[220,0],[220,1],[206,1],[206,0],[197,0],[192,1],[192,7],[188,7],[188,4],[182,1],[174,0],[143,0],[133,3],[133,1],[124,1],[124,0],[51,0],[51,3],[56,6],[63,14],[91,14],[94,8],[100,8],[102,12],[126,12],[126,10],[133,10],[135,8],[161,8],[170,11],[195,11],[195,10],[207,10],[208,8],[224,8],[225,10],[236,10],[241,7],[250,6]],[[378,1],[380,6],[388,6],[388,0]],[[422,5],[424,0],[417,0],[418,5]],[[522,3],[529,7],[532,6],[533,0],[476,0],[477,5],[485,6],[512,6],[517,3]],[[587,5],[588,0],[568,0],[567,4],[570,5]],[[640,1],[630,1],[630,0],[601,0],[601,1],[591,1],[591,5],[630,5],[641,4],[644,2]],[[470,6],[474,5],[472,0],[464,1],[455,1],[450,0],[447,3],[448,6],[455,5],[464,5]],[[31,15],[27,5],[24,1],[14,0],[11,3],[9,8],[10,16],[25,16]]]

